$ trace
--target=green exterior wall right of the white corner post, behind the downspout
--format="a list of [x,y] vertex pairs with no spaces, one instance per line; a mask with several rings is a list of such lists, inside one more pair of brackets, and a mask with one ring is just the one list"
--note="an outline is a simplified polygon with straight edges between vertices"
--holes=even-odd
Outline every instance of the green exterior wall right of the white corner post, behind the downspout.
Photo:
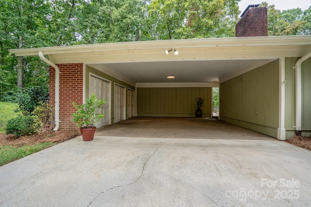
[[[295,63],[300,57],[285,58],[285,128],[286,138],[295,134]],[[311,133],[311,58],[301,64],[302,132]]]

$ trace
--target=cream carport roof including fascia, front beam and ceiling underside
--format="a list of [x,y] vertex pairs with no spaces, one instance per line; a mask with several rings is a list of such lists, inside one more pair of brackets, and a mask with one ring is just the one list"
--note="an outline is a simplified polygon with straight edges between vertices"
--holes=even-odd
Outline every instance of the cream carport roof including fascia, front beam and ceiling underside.
[[[168,55],[166,49],[175,48]],[[282,57],[311,51],[311,35],[202,38],[9,50],[39,51],[54,64],[84,63],[133,84],[218,83]],[[176,76],[168,80],[167,75]]]

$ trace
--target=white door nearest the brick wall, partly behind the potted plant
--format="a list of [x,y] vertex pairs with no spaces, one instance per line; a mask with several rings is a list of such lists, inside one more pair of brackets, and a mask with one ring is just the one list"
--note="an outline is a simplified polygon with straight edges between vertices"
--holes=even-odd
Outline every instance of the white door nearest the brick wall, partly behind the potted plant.
[[103,127],[105,125],[109,125],[110,115],[109,115],[109,93],[110,93],[110,82],[97,78],[95,76],[90,76],[89,78],[89,96],[91,94],[95,94],[97,99],[104,98],[106,104],[99,109],[99,112],[104,111],[104,117],[101,121],[96,123],[95,127]]

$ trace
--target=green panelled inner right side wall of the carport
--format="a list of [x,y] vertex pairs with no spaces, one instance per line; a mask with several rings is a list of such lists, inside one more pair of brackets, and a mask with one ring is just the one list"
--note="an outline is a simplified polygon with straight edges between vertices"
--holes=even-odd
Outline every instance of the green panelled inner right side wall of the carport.
[[279,61],[220,84],[220,119],[277,137]]

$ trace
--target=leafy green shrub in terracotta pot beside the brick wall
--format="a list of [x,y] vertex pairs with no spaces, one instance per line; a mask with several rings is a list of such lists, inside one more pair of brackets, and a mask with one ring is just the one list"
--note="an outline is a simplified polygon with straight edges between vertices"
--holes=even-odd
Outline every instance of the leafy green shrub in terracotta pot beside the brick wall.
[[94,94],[86,99],[85,104],[76,104],[72,102],[72,105],[76,108],[76,112],[72,114],[72,121],[80,126],[83,141],[92,141],[96,127],[94,126],[101,118],[104,113],[98,113],[97,109],[105,104],[104,99],[97,100]]

